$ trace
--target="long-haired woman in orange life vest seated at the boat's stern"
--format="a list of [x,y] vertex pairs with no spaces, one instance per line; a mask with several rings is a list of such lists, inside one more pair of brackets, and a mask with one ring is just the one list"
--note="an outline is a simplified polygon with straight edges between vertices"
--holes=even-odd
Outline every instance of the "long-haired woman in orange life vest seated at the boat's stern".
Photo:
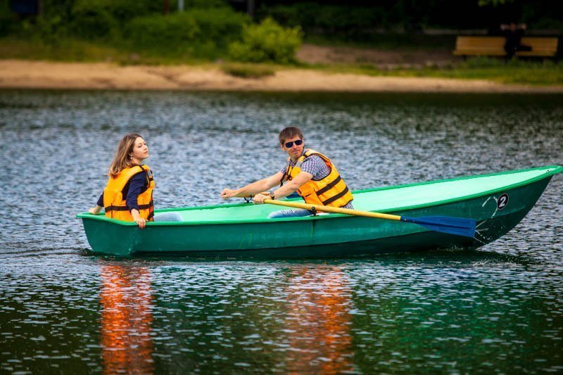
[[148,158],[148,147],[143,137],[131,133],[124,136],[109,168],[109,181],[96,207],[88,212],[99,214],[105,208],[106,217],[136,222],[143,229],[153,221],[153,189],[151,169],[143,165]]

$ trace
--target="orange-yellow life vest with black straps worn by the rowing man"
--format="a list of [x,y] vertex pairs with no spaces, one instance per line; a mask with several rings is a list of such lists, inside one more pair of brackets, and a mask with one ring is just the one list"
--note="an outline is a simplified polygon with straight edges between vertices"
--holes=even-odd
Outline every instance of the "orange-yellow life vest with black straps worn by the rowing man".
[[290,164],[291,158],[287,159],[287,179],[290,181],[294,179],[299,172],[301,172],[301,164],[303,164],[303,161],[311,155],[320,156],[327,167],[329,167],[330,173],[327,177],[324,177],[324,179],[320,179],[319,181],[310,179],[308,182],[301,185],[297,192],[305,199],[305,203],[343,207],[353,201],[354,197],[348,190],[346,182],[340,177],[339,172],[336,170],[336,167],[334,167],[334,164],[331,163],[330,159],[322,155],[322,153],[318,153],[310,148],[297,159],[294,166]]

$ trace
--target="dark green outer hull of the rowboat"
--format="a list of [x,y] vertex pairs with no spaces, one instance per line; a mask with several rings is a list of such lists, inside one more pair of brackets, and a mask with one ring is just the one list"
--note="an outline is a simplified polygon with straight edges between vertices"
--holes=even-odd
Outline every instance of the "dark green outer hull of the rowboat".
[[[551,177],[461,201],[388,212],[410,217],[473,218],[477,222],[474,238],[429,231],[417,224],[343,215],[260,223],[153,225],[146,229],[84,216],[82,222],[94,253],[125,256],[182,253],[236,258],[335,258],[439,248],[474,249],[517,225],[538,201]],[[509,200],[499,208],[503,195]]]

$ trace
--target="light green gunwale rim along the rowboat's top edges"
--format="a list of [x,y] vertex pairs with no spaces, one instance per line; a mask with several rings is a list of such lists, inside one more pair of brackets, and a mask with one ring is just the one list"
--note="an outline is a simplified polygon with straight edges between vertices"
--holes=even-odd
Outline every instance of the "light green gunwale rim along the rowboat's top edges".
[[[531,172],[533,170],[548,170],[553,168],[553,170],[546,171],[543,174],[539,174],[536,177],[531,177],[521,182],[516,182],[514,184],[502,186],[500,188],[491,189],[487,191],[480,191],[479,193],[468,194],[467,196],[460,196],[457,198],[449,198],[444,199],[443,201],[435,201],[431,203],[420,203],[418,205],[410,205],[410,206],[403,206],[403,207],[396,207],[396,208],[387,208],[383,210],[372,210],[370,212],[396,212],[396,211],[404,211],[404,210],[416,210],[419,208],[426,208],[438,205],[444,205],[448,203],[455,203],[459,201],[466,201],[472,198],[478,198],[479,196],[486,196],[491,193],[498,193],[500,191],[515,189],[520,186],[525,186],[532,184],[533,182],[538,182],[542,179],[552,177],[553,175],[562,172],[563,167],[560,165],[545,165],[543,167],[534,167],[534,168],[526,168],[521,170],[511,170],[505,172],[495,172],[495,173],[488,173],[488,174],[477,174],[473,176],[463,176],[463,177],[454,177],[451,179],[439,179],[427,182],[415,182],[412,184],[403,184],[403,185],[394,185],[394,186],[381,186],[373,189],[363,189],[363,190],[356,190],[352,193],[370,193],[373,191],[384,191],[384,190],[391,190],[391,189],[403,189],[410,186],[424,186],[430,184],[440,184],[443,182],[454,182],[454,181],[462,181],[465,179],[476,179],[482,177],[491,177],[491,176],[500,176],[503,174],[514,174],[514,173],[521,173],[521,172]],[[291,198],[287,201],[299,201],[301,198]],[[172,212],[172,211],[189,211],[189,210],[214,210],[216,208],[231,208],[231,207],[241,207],[248,205],[248,203],[235,203],[235,204],[224,204],[224,205],[206,205],[203,207],[183,207],[183,208],[163,208],[160,210],[155,210],[157,212]],[[104,222],[111,222],[114,224],[120,224],[125,226],[137,226],[135,222],[124,222],[122,220],[112,219],[110,217],[106,217],[103,213],[99,213],[97,215],[92,215],[89,212],[82,212],[76,215],[79,219],[91,219],[91,220],[101,220]],[[280,217],[276,219],[275,222],[299,222],[303,220],[329,220],[329,219],[336,219],[336,218],[343,218],[343,217],[354,217],[351,215],[346,214],[331,214],[331,215],[321,215],[321,216],[306,216],[306,217]],[[201,221],[201,222],[148,222],[147,225],[150,227],[161,227],[161,226],[187,226],[187,225],[210,225],[210,224],[253,224],[253,223],[264,223],[264,222],[272,222],[272,219],[248,219],[248,220],[239,220],[239,221],[232,221],[232,220],[215,220],[215,221]]]

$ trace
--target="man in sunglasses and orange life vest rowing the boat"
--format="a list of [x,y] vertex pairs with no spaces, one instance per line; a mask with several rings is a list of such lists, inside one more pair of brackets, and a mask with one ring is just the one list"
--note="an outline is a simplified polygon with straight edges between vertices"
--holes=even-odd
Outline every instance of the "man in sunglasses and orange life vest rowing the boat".
[[[282,170],[240,189],[223,189],[221,198],[253,196],[255,204],[262,204],[265,199],[279,199],[297,191],[305,203],[353,208],[352,193],[334,164],[322,153],[305,148],[303,133],[300,129],[286,127],[281,130],[279,145],[289,156],[287,164]],[[262,193],[277,184],[280,184],[278,189],[271,193]],[[311,214],[312,212],[309,210],[291,209],[272,212],[268,217],[271,219]]]

